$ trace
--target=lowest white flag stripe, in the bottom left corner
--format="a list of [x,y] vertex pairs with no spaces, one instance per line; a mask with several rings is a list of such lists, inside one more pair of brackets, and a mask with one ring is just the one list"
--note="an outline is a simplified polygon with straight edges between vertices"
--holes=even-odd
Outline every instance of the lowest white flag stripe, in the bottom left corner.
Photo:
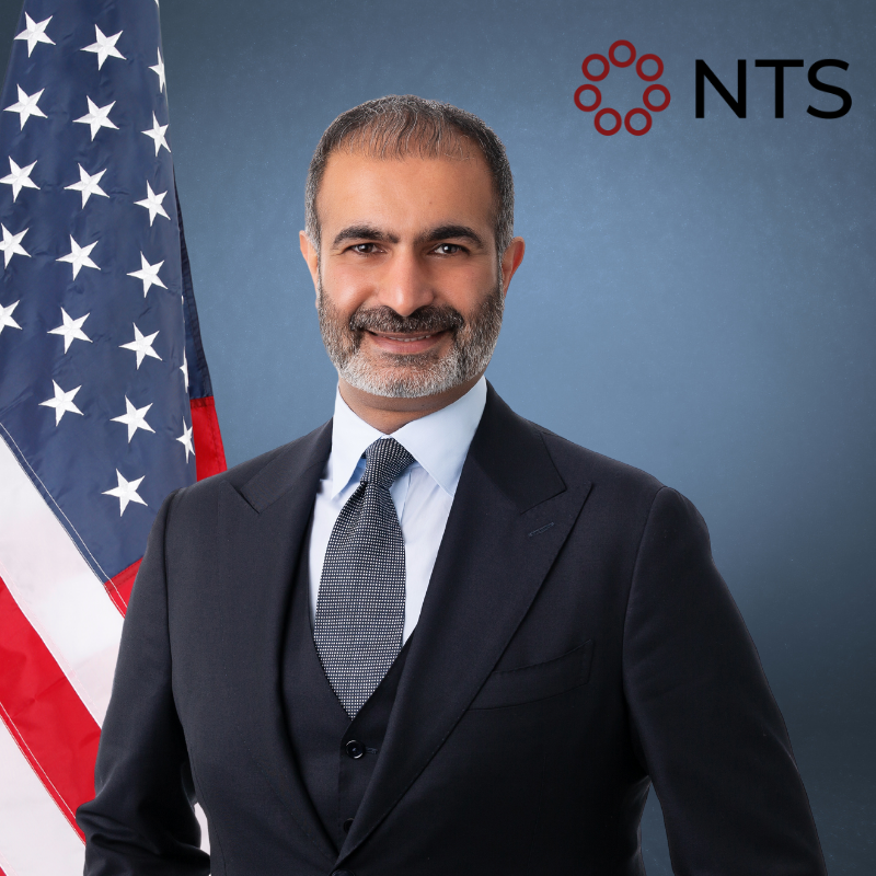
[[0,722],[0,865],[7,876],[74,876],[85,846]]

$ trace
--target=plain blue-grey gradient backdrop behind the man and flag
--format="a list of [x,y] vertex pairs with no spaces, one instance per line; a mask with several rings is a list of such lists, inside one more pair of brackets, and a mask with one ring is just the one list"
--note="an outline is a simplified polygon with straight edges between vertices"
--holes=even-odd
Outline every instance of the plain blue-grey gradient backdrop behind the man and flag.
[[[16,0],[2,0],[8,50]],[[342,111],[413,92],[504,139],[527,239],[488,376],[521,414],[652,472],[710,525],[785,715],[828,867],[873,872],[876,350],[872,2],[162,0],[171,145],[204,345],[233,464],[332,412],[298,254],[312,149]],[[572,102],[619,38],[666,62],[644,137]],[[694,59],[708,90],[694,118]],[[840,58],[822,79],[756,58]],[[5,57],[0,57],[5,69]],[[632,68],[604,103],[641,105]],[[671,872],[659,805],[649,874]]]

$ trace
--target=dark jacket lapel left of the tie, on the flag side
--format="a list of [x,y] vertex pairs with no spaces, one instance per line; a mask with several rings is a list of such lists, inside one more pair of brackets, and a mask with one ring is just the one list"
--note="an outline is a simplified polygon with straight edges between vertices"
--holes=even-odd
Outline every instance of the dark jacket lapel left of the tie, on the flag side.
[[280,690],[292,576],[331,436],[328,423],[287,447],[240,492],[222,485],[216,593],[223,602],[227,714],[288,812],[333,861],[335,849],[296,765]]

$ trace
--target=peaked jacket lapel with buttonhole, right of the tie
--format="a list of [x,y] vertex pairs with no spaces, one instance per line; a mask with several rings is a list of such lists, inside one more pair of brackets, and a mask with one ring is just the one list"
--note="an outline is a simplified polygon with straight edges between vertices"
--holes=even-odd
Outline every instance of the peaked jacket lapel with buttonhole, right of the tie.
[[526,615],[590,489],[492,387],[411,642],[383,749],[338,864],[416,780]]

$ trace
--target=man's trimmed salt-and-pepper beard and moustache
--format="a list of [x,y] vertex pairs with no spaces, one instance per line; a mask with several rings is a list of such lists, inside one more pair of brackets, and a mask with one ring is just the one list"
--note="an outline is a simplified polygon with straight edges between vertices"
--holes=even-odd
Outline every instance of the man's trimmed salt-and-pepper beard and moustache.
[[[502,328],[505,297],[502,277],[466,319],[449,304],[425,307],[410,316],[392,308],[359,308],[345,319],[333,307],[318,277],[316,309],[328,358],[350,387],[387,399],[422,399],[458,387],[482,373],[493,356]],[[450,332],[445,353],[394,354],[361,350],[366,332],[429,335]]]

